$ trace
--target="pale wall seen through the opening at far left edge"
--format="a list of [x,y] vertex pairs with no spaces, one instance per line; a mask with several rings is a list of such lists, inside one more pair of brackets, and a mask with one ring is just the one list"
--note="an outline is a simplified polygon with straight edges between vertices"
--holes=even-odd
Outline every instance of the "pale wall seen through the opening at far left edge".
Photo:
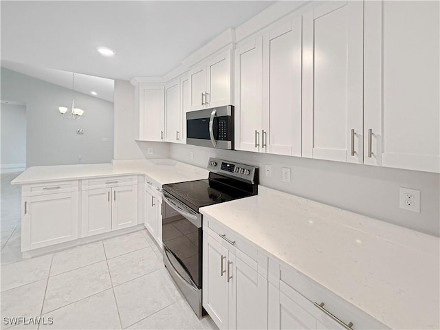
[[26,107],[1,103],[1,169],[26,166]]

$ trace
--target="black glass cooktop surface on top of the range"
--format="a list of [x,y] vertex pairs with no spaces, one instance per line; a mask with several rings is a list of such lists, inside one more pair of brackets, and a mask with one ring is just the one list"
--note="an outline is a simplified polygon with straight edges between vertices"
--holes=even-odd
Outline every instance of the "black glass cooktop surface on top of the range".
[[203,206],[254,195],[249,190],[219,183],[214,179],[165,184],[163,189],[197,212]]

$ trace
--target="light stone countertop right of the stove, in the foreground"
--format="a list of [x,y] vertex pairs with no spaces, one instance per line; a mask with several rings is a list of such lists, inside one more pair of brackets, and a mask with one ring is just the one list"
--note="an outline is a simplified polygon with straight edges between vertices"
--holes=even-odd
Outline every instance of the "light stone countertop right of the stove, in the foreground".
[[259,186],[216,219],[392,329],[439,329],[437,237]]

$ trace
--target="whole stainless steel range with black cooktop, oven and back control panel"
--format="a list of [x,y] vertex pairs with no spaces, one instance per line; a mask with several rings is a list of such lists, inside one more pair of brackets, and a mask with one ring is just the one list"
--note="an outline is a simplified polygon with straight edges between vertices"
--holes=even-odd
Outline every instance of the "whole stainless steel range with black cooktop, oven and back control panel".
[[164,263],[200,318],[202,223],[199,208],[257,194],[259,168],[210,158],[208,179],[162,186]]

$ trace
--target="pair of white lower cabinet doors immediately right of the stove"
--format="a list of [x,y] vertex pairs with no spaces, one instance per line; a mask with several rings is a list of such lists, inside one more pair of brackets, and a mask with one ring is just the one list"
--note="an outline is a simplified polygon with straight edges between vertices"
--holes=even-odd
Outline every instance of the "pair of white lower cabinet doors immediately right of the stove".
[[219,329],[267,329],[267,279],[238,249],[203,230],[203,307]]

